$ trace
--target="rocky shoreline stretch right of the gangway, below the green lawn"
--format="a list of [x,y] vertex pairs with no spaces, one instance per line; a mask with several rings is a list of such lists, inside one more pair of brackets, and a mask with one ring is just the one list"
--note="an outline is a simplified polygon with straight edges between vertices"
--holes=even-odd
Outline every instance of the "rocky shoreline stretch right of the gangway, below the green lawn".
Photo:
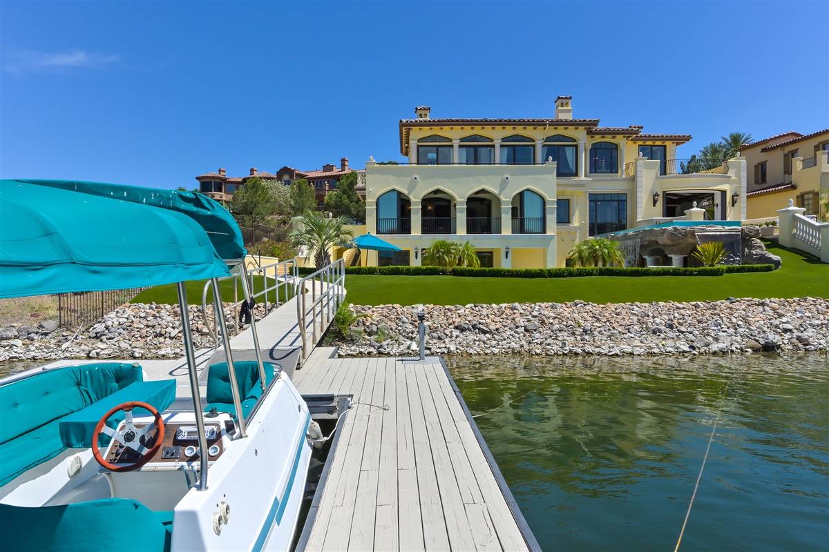
[[[418,349],[420,305],[351,306],[341,356]],[[429,354],[660,355],[794,353],[829,348],[829,300],[424,305]]]

